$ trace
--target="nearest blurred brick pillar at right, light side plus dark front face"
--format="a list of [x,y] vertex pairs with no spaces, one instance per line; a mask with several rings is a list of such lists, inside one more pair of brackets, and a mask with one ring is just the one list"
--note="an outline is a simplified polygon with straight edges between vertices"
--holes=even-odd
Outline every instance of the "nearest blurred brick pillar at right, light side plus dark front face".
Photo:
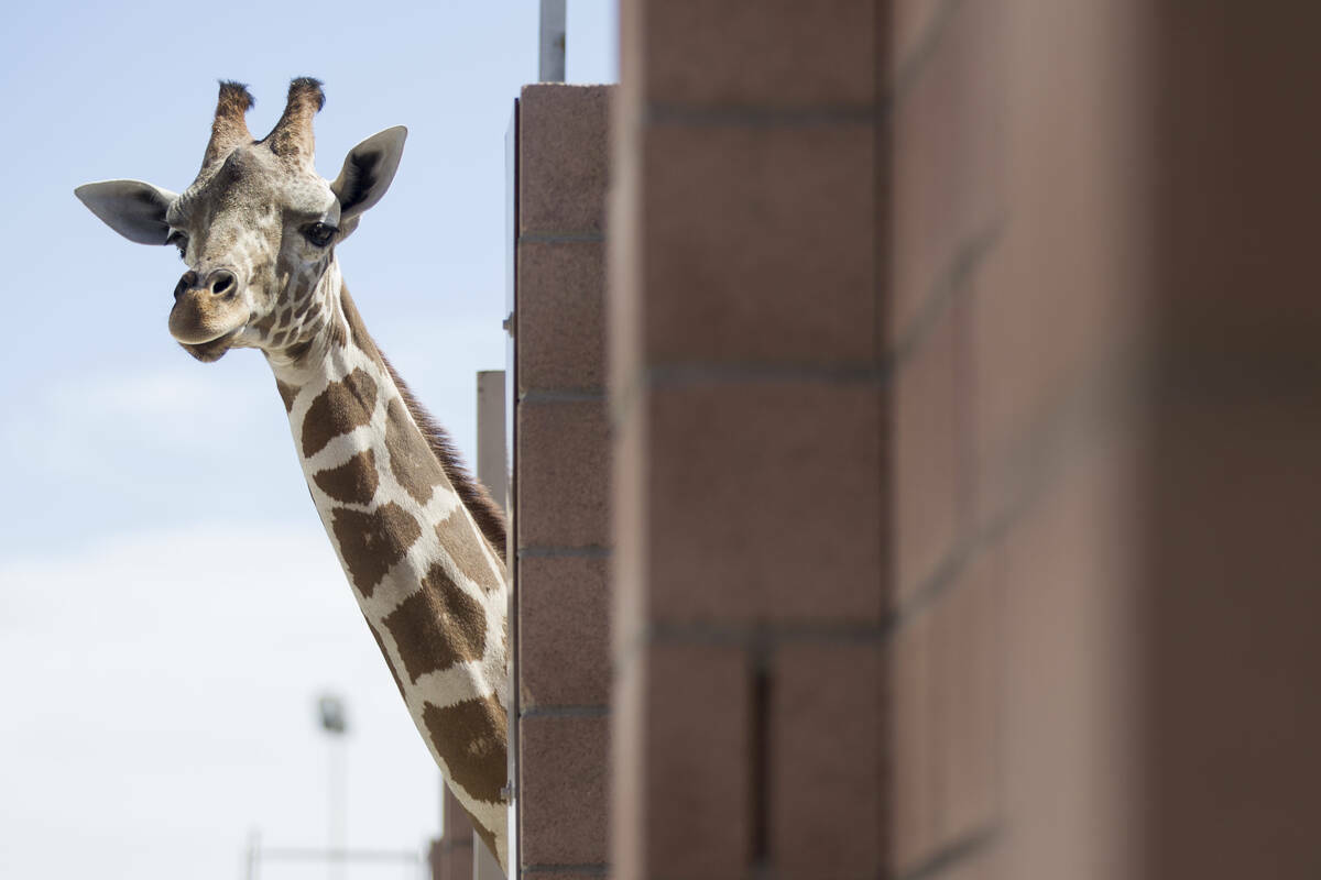
[[1317,871],[1316,18],[894,4],[900,877]]

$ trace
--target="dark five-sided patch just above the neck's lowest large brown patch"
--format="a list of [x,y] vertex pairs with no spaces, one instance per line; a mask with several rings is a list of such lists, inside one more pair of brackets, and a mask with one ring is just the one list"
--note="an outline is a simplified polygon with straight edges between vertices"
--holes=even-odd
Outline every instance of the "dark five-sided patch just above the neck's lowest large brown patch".
[[421,590],[384,619],[410,681],[486,653],[486,612],[433,563]]

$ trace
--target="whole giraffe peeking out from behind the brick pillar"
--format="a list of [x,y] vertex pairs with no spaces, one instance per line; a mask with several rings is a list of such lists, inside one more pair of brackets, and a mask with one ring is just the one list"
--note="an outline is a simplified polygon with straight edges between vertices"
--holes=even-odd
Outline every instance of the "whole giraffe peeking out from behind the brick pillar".
[[367,334],[336,247],[384,195],[406,129],[313,166],[321,83],[295,79],[275,128],[222,82],[197,179],[75,190],[141,244],[178,248],[169,331],[199,361],[258,348],[275,373],[312,500],[408,712],[478,835],[506,867],[505,522]]

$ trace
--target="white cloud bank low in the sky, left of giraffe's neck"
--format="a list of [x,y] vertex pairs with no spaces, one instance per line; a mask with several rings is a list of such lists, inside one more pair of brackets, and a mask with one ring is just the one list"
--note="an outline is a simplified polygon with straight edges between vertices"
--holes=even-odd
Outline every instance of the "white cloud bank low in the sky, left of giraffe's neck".
[[251,827],[322,844],[322,689],[349,703],[350,844],[437,829],[439,773],[316,525],[3,562],[0,665],[0,876],[227,880]]

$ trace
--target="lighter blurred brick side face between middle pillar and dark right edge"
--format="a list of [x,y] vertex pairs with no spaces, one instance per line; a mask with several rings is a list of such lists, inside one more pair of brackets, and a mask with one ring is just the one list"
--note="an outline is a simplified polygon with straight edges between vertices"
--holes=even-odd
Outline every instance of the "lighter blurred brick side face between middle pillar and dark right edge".
[[890,864],[1131,876],[1129,4],[896,3]]

